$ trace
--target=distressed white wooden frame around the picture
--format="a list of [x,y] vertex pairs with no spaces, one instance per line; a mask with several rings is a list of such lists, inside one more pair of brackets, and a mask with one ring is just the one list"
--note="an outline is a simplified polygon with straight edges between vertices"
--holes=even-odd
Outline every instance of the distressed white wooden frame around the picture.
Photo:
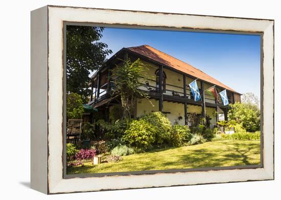
[[[128,17],[130,16],[130,17]],[[122,176],[63,174],[64,22],[260,33],[262,166]],[[274,20],[45,6],[31,13],[31,187],[46,194],[274,179]],[[267,98],[263,98],[266,96]]]

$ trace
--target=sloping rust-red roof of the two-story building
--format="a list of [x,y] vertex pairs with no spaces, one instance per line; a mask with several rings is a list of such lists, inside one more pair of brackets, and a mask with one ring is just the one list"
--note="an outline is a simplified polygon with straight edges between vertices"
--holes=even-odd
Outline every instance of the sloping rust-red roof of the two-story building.
[[[142,46],[136,46],[136,47],[128,47],[126,49],[129,49],[135,53],[138,53],[140,55],[146,56],[147,58],[154,60],[158,63],[161,63],[162,65],[166,65],[169,67],[172,67],[176,70],[182,71],[186,74],[190,74],[196,78],[199,78],[201,80],[205,80],[207,82],[213,83],[215,85],[218,85],[219,87],[225,88],[229,91],[236,92],[235,90],[227,87],[222,82],[218,81],[217,79],[213,78],[212,76],[209,76],[208,74],[205,74],[201,70],[184,63],[183,61],[180,61],[176,58],[174,58],[171,55],[168,55],[162,51],[159,51],[149,45],[142,45]],[[237,93],[237,92],[236,92]]]

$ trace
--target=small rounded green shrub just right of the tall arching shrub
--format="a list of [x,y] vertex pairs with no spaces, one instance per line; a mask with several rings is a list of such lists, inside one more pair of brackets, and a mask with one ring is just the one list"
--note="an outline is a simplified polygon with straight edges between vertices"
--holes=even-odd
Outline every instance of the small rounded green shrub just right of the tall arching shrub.
[[178,147],[189,142],[192,134],[188,126],[174,125],[170,134],[170,144]]

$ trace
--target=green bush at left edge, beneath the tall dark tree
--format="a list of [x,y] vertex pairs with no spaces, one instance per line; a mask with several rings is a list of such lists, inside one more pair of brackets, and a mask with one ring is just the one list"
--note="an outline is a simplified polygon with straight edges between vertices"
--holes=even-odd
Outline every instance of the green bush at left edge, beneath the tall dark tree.
[[66,116],[68,119],[80,119],[84,112],[83,101],[80,95],[70,93],[66,95]]

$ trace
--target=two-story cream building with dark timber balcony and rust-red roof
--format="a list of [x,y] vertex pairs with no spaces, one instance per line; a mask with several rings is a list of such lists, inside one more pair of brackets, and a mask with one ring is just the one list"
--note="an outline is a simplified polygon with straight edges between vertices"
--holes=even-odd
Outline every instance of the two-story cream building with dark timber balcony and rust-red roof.
[[[118,98],[111,96],[110,70],[121,65],[125,55],[131,61],[140,59],[146,67],[147,76],[143,80],[144,90],[150,97],[137,99],[131,116],[137,118],[152,111],[161,111],[167,115],[172,124],[197,126],[201,119],[208,119],[210,126],[217,124],[219,117],[227,120],[228,106],[224,106],[221,99],[204,92],[216,85],[218,92],[227,91],[229,103],[241,101],[241,94],[227,87],[217,79],[201,70],[184,63],[171,55],[159,51],[149,45],[122,48],[106,62],[106,64],[91,77],[89,83],[92,89],[89,105],[98,108],[108,119],[112,105],[120,104]],[[219,72],[218,72],[219,73]],[[197,79],[201,100],[195,101],[189,83]]]

